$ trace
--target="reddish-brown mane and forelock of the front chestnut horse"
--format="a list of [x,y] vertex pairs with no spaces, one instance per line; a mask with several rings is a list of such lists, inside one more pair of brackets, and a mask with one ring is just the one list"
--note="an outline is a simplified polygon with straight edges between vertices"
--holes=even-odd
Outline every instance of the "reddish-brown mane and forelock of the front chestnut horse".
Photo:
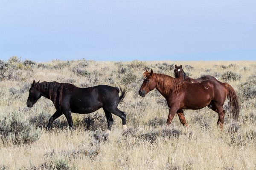
[[[148,75],[151,75],[150,72],[144,72],[143,76],[147,77]],[[187,88],[185,81],[177,78],[172,78],[169,75],[164,75],[164,74],[157,74],[153,73],[151,75],[156,83],[157,87],[159,89],[162,89],[165,94],[169,94],[171,92],[175,92],[176,94],[180,92],[183,88]]]

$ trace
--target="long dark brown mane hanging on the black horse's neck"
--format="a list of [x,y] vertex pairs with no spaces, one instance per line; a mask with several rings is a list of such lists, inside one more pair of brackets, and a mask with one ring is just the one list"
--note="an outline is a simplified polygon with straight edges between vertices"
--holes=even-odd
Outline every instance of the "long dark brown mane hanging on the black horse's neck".
[[59,105],[61,106],[63,89],[65,89],[66,92],[70,92],[71,88],[74,89],[74,87],[76,87],[76,86],[74,86],[73,84],[69,84],[69,83],[58,83],[56,81],[52,81],[52,82],[43,81],[41,83],[36,83],[34,87],[39,92],[47,92],[48,91],[50,100],[53,99],[54,106],[56,104],[56,98],[58,95]]

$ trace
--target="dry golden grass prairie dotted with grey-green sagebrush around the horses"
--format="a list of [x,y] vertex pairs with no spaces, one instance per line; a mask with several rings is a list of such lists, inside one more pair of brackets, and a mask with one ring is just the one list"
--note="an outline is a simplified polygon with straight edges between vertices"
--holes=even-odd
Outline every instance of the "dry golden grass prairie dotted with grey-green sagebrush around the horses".
[[[175,64],[191,78],[212,75],[227,82],[239,97],[240,115],[227,111],[221,131],[217,113],[208,107],[184,110],[188,127],[175,115],[166,127],[169,107],[154,89],[138,95],[145,69],[174,77]],[[64,115],[45,130],[55,107],[41,97],[26,106],[35,80],[100,84],[127,89],[118,108],[127,113],[107,133],[103,109]],[[119,93],[120,94],[120,93]],[[227,100],[224,109],[228,110]],[[0,60],[0,170],[241,170],[256,169],[256,61],[59,61],[37,63],[16,56]]]

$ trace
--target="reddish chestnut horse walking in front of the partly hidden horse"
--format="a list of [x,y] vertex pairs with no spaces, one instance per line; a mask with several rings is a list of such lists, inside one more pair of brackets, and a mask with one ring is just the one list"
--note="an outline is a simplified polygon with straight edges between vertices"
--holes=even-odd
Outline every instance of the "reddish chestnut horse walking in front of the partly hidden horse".
[[216,79],[210,79],[199,83],[172,78],[169,75],[144,72],[144,81],[139,94],[142,97],[153,89],[157,89],[166,98],[169,109],[167,126],[172,122],[175,113],[179,116],[183,126],[187,126],[182,109],[202,109],[206,106],[218,113],[217,125],[222,129],[225,110],[223,109],[226,97],[230,112],[237,120],[239,116],[239,101],[233,87],[227,83],[221,83]]

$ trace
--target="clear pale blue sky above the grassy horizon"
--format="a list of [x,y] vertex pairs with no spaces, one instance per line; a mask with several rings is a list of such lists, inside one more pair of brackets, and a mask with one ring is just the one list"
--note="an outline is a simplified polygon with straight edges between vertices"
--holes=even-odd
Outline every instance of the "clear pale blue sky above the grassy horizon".
[[0,0],[0,59],[256,60],[256,1]]

